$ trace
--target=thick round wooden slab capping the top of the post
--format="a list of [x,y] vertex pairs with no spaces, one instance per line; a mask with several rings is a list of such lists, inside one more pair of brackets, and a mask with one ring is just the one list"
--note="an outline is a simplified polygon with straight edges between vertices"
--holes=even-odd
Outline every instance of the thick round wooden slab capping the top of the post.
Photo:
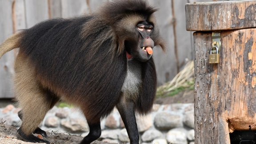
[[256,27],[256,0],[186,4],[185,11],[187,31]]

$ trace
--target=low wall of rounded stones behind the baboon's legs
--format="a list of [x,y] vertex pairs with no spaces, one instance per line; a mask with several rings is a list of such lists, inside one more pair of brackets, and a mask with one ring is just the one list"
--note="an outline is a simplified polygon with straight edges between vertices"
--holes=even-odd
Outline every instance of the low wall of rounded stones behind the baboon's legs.
[[[20,108],[8,105],[0,108],[0,122],[20,127],[17,115]],[[194,144],[194,105],[193,104],[154,104],[147,116],[136,116],[141,144]],[[86,136],[89,128],[78,108],[57,108],[50,110],[40,128],[48,132],[64,132]],[[119,112],[114,109],[110,116],[101,122],[100,139],[111,143],[129,142],[128,134]]]

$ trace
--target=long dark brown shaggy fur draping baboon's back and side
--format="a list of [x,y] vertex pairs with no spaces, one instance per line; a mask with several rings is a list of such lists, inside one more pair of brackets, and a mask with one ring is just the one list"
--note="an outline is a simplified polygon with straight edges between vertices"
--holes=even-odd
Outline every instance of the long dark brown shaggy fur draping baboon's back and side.
[[126,55],[111,53],[118,47],[111,28],[100,24],[83,31],[95,21],[92,16],[46,21],[26,30],[20,44],[43,87],[90,111],[89,120],[112,111],[126,75]]

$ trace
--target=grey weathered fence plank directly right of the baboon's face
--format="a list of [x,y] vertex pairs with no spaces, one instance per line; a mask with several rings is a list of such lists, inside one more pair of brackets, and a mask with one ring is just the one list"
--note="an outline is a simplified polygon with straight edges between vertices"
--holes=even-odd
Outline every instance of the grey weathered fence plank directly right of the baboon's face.
[[[177,74],[177,67],[174,54],[174,37],[172,28],[172,9],[170,0],[149,0],[154,7],[159,8],[155,13],[156,22],[160,29],[160,34],[166,42],[166,54],[159,48],[154,49],[154,60],[156,64],[157,83],[164,84]],[[167,15],[168,14],[168,15]]]

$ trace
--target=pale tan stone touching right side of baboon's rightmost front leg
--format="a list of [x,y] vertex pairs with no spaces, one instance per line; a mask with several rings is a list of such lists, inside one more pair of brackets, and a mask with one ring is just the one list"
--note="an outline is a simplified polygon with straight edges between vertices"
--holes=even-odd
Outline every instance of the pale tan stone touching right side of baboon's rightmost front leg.
[[152,115],[146,115],[146,116],[136,116],[136,122],[138,126],[139,132],[144,132],[152,127]]

